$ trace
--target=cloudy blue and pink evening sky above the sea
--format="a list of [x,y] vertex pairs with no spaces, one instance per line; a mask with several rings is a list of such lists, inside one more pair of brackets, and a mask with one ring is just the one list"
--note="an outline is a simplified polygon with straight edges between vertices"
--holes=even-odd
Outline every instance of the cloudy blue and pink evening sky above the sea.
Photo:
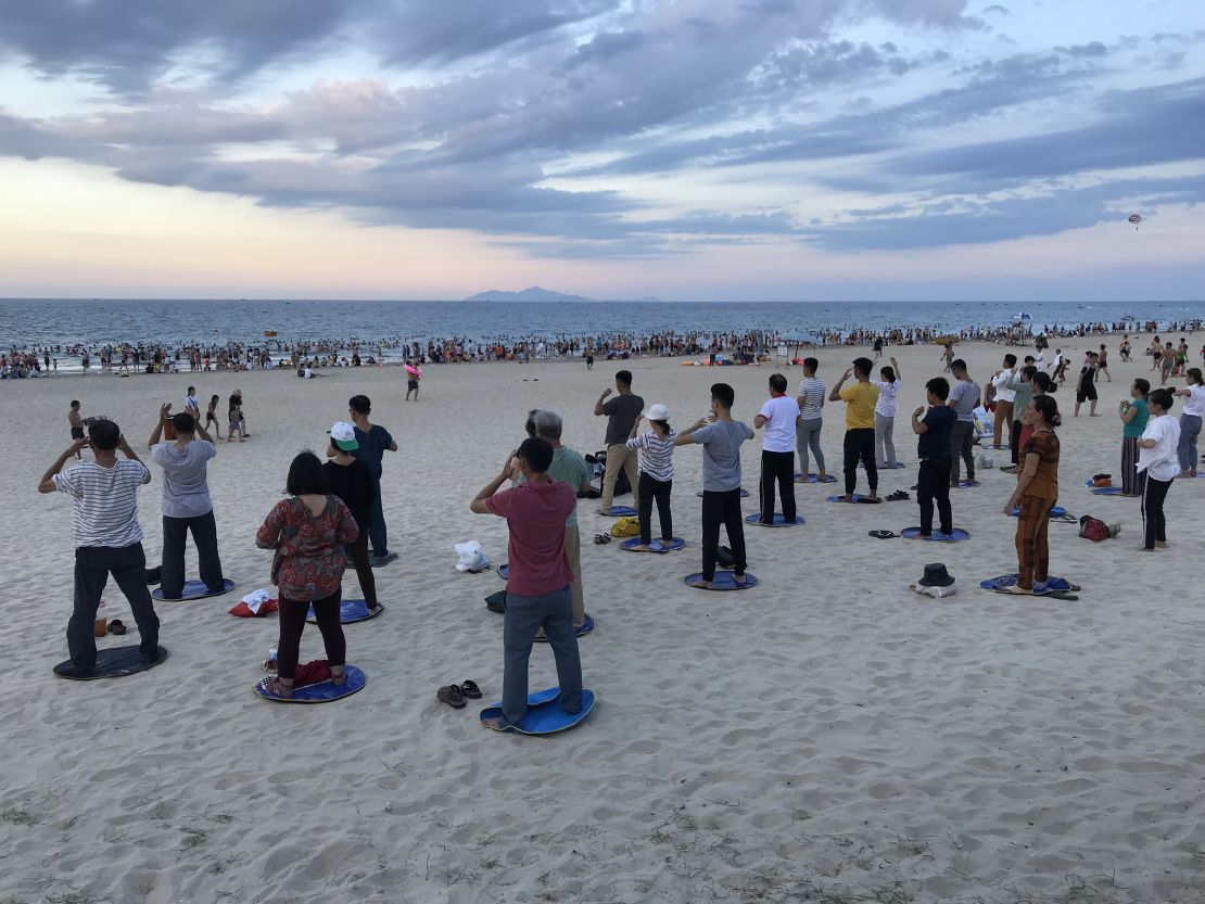
[[0,0],[0,297],[1201,299],[1203,200],[1200,0]]

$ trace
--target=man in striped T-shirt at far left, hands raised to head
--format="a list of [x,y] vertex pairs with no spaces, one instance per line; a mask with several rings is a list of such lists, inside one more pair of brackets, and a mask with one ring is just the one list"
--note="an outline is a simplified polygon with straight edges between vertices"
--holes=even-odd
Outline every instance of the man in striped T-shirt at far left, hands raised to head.
[[[95,460],[63,472],[63,465],[90,446]],[[117,451],[125,459],[117,458]],[[139,524],[139,487],[151,482],[151,471],[139,460],[112,421],[94,421],[88,439],[76,440],[42,475],[37,492],[59,491],[72,499],[71,528],[75,538],[75,611],[67,622],[67,650],[76,676],[96,668],[93,635],[100,594],[112,575],[125,594],[139,626],[139,652],[155,659],[159,650],[159,617],[146,585],[146,554]]]

